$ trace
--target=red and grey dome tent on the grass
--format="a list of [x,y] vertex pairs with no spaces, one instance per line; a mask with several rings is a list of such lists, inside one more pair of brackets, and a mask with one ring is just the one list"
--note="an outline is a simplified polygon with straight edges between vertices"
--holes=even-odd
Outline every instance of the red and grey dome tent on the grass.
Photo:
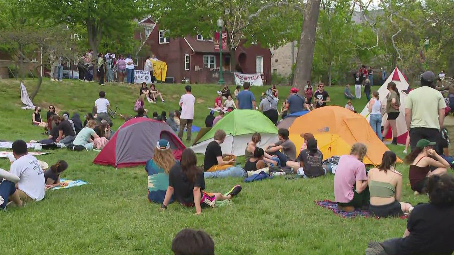
[[186,147],[172,128],[149,118],[133,118],[118,128],[93,163],[116,168],[144,165],[153,157],[159,139],[169,141],[173,155],[179,160]]

